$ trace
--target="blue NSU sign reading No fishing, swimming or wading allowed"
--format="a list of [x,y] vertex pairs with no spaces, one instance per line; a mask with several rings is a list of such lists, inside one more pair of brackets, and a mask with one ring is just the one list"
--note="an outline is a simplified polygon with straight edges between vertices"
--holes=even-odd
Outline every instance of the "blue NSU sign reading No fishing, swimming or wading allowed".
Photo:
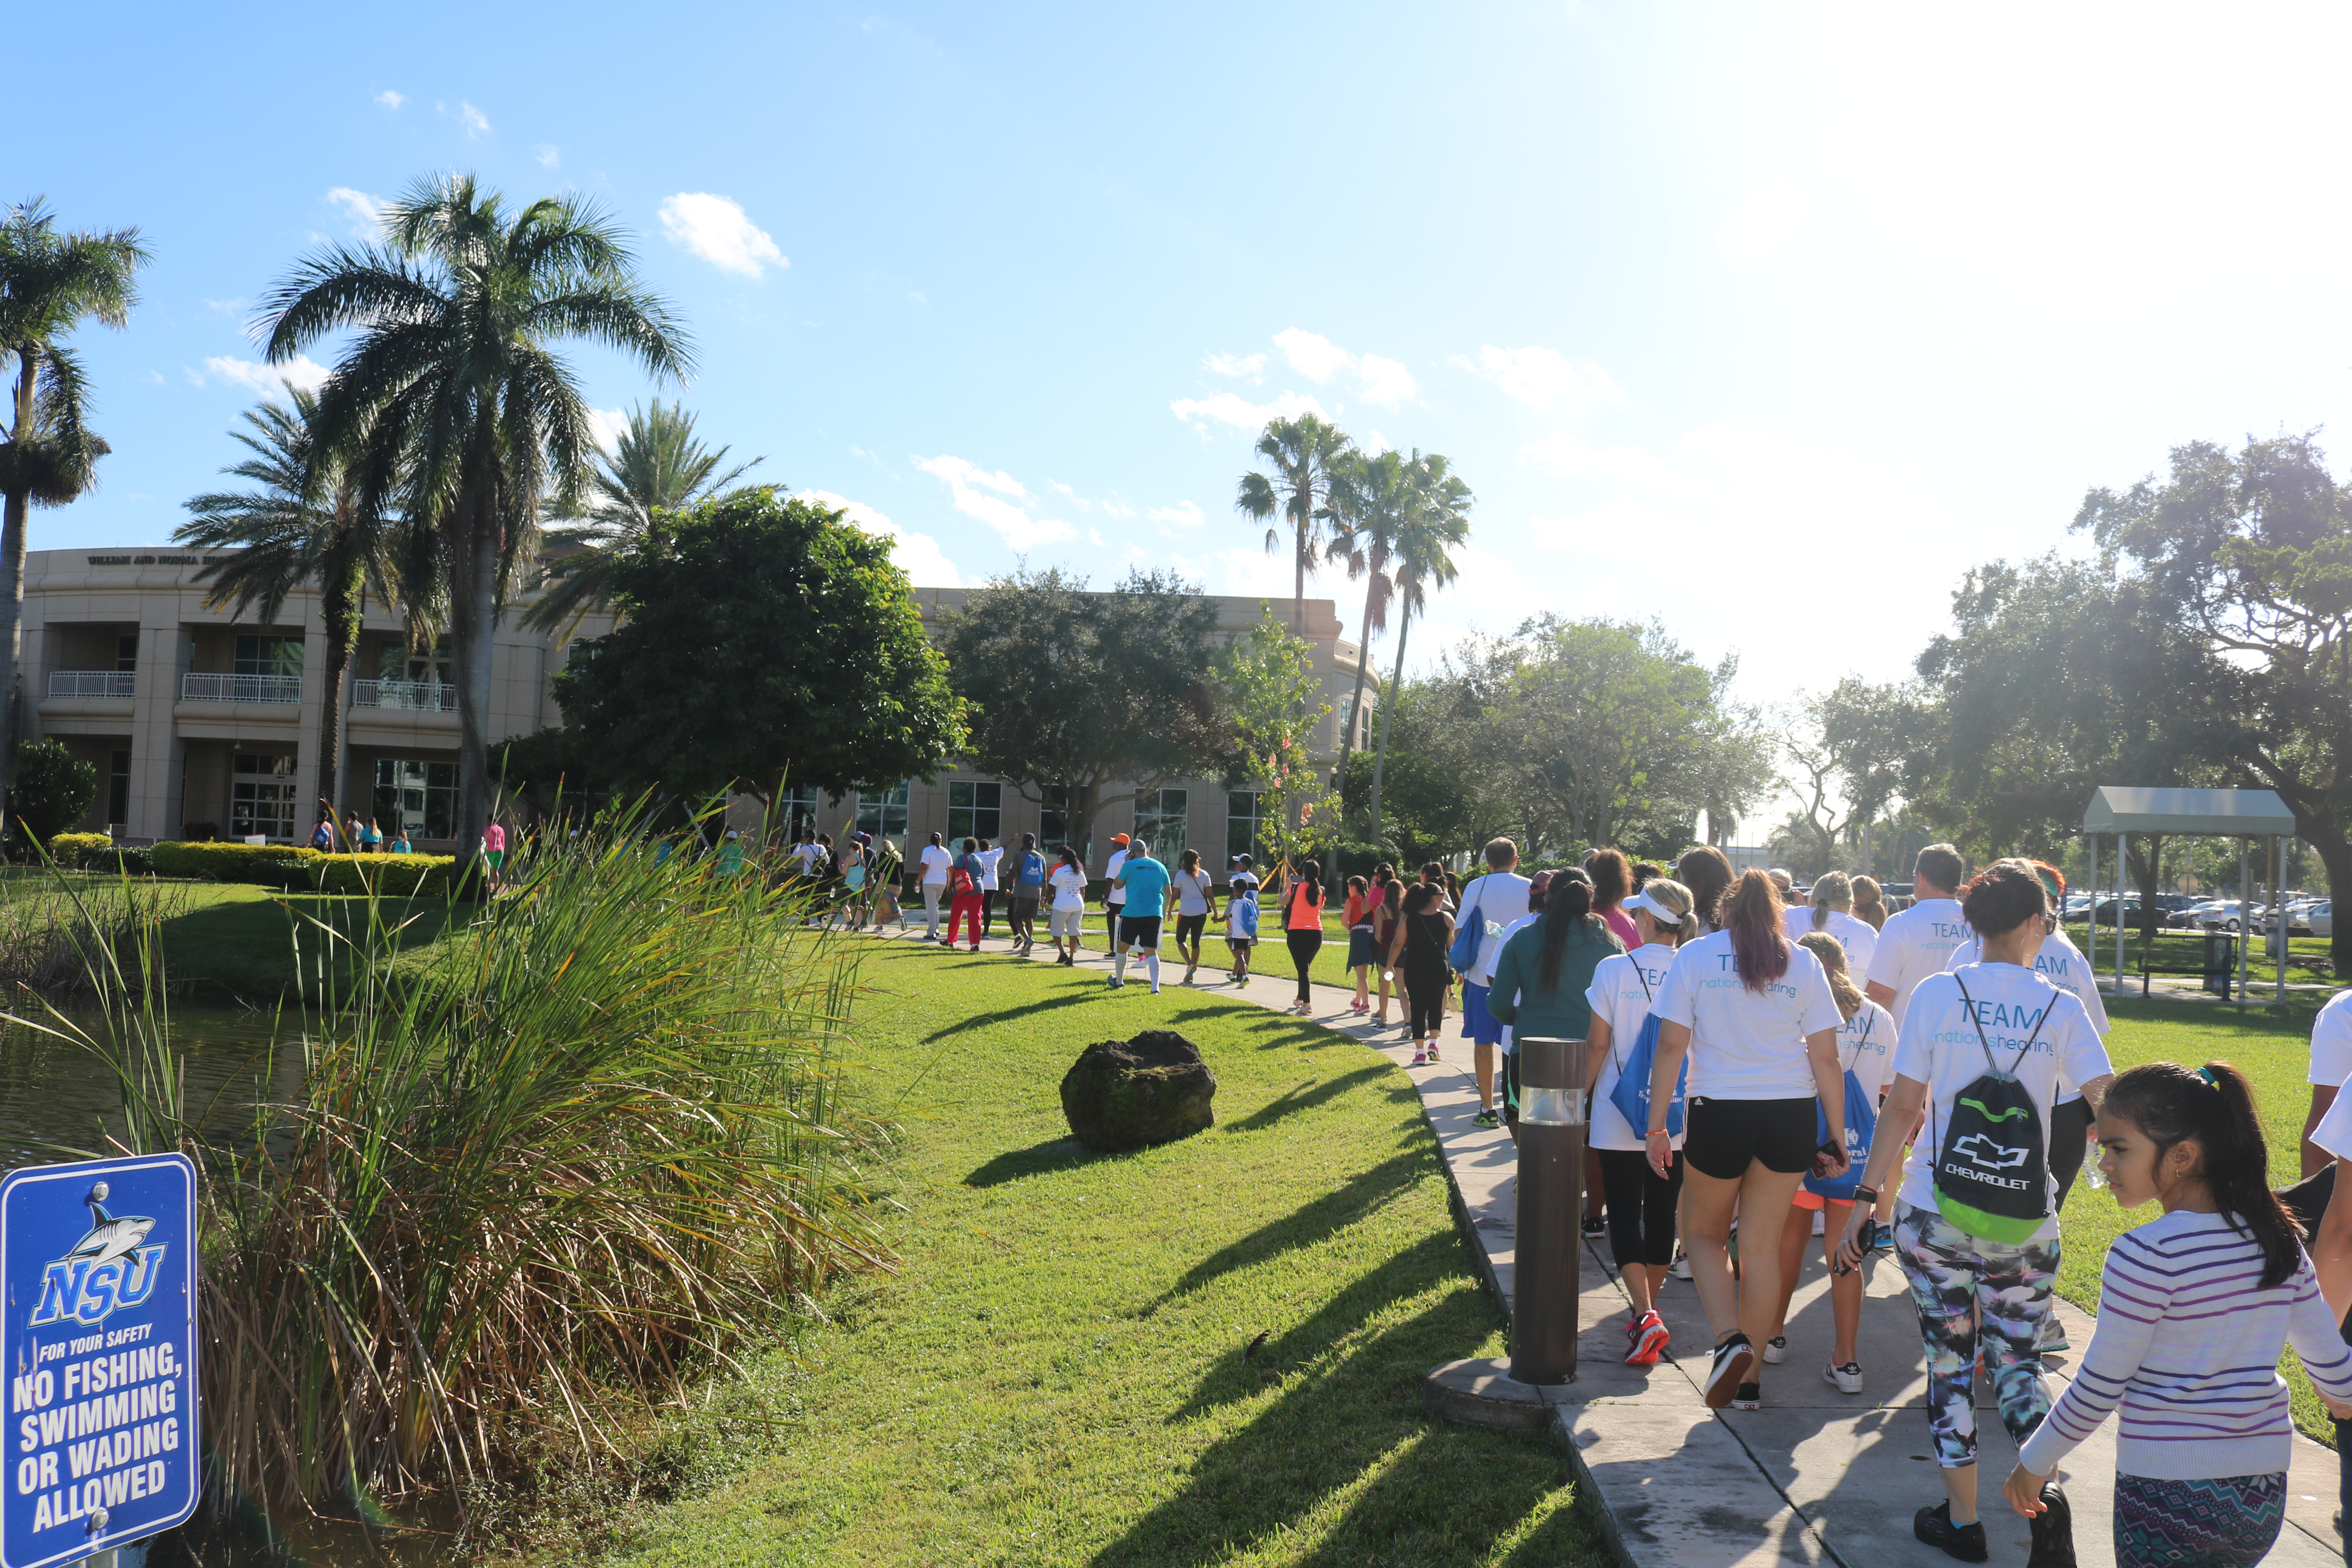
[[111,1568],[115,1547],[186,1521],[202,1488],[195,1166],[146,1154],[12,1171],[0,1288],[0,1568]]

